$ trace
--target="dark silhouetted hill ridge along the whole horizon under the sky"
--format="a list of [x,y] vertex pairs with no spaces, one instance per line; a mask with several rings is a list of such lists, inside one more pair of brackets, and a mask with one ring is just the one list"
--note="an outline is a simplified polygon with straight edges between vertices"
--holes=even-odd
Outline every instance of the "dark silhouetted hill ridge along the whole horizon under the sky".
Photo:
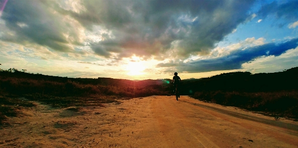
[[[172,85],[171,79],[158,80],[126,80],[113,78],[68,78],[59,76],[48,76],[42,74],[32,74],[18,71],[10,68],[9,70],[1,70],[0,76],[29,78],[40,81],[55,82],[76,82],[79,84],[92,84],[103,86],[121,86],[121,87],[138,87],[144,88],[152,85],[161,85],[165,90],[170,91]],[[250,72],[230,72],[211,76],[209,78],[190,78],[182,79],[182,88],[185,95],[191,95],[198,91],[277,91],[298,89],[298,67],[275,73],[257,73]],[[155,86],[156,87],[156,86]],[[192,92],[192,93],[189,93]]]

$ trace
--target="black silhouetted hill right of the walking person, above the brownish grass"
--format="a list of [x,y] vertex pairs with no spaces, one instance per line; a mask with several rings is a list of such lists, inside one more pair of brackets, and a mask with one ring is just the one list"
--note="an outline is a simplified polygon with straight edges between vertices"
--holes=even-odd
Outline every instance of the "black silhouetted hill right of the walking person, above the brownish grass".
[[[298,89],[298,67],[275,73],[230,72],[183,83],[184,95],[200,91],[272,92]],[[192,92],[192,93],[191,93]]]

